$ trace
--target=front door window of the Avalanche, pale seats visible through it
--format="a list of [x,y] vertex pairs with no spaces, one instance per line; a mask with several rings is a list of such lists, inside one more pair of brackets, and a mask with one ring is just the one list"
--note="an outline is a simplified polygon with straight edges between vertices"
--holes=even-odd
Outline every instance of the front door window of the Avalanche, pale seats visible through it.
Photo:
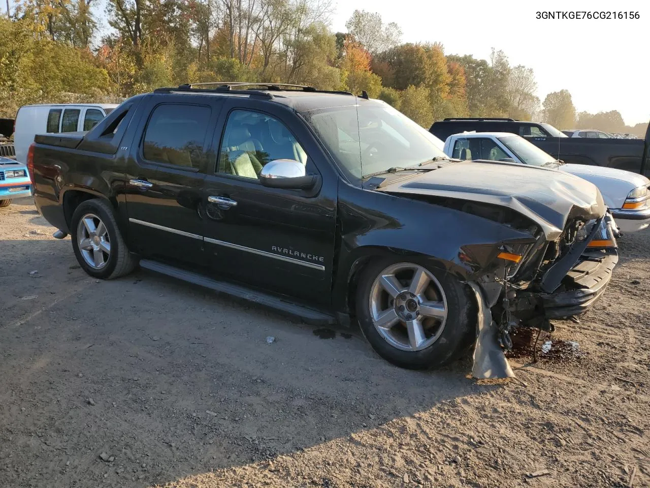
[[215,172],[257,180],[275,159],[307,164],[307,153],[278,119],[249,110],[233,110],[226,122]]

